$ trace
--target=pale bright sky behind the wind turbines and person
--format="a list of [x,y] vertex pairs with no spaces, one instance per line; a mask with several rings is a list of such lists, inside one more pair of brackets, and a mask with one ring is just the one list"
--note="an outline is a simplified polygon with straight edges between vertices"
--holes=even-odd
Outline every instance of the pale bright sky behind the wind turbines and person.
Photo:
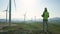
[[[60,0],[12,0],[12,19],[42,19],[44,8],[47,7],[50,17],[60,17]],[[0,0],[0,19],[6,18],[7,6],[9,7],[9,0]],[[8,11],[9,18],[9,11]]]

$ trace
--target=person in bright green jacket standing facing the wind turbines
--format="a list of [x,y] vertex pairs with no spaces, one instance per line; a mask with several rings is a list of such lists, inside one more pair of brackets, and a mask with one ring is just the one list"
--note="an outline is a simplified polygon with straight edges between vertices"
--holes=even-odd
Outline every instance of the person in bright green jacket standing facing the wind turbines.
[[47,11],[47,8],[44,9],[44,12],[42,14],[43,17],[43,31],[44,31],[44,24],[46,24],[46,32],[48,31],[48,17],[49,17],[49,12]]

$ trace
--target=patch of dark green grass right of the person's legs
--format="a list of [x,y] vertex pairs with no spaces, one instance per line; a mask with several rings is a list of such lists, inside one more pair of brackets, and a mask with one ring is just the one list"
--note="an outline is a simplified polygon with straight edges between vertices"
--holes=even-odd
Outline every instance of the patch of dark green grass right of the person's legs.
[[49,31],[54,34],[60,34],[60,25],[55,23],[49,24]]

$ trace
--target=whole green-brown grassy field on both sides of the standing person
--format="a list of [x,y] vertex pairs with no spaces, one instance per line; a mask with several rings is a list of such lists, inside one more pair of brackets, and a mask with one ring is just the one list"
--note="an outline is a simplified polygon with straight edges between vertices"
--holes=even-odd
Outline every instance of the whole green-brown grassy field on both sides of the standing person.
[[[5,24],[6,25],[6,24]],[[41,22],[3,24],[0,34],[46,34]],[[60,34],[60,23],[48,23],[48,34]]]

